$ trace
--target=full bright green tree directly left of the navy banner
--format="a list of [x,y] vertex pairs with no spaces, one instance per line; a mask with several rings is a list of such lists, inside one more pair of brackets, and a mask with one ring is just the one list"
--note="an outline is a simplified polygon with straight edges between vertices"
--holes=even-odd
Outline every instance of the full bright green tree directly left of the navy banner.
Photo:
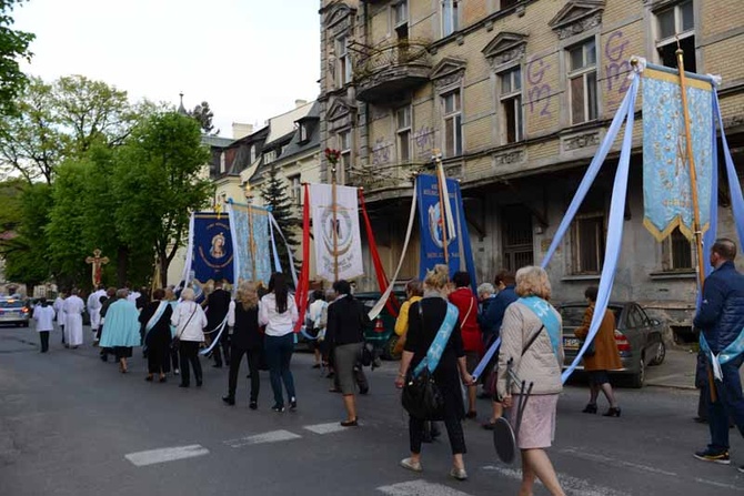
[[164,283],[183,245],[190,212],[204,206],[211,196],[212,185],[200,174],[209,151],[201,144],[193,119],[161,112],[137,126],[117,155],[117,226],[128,245],[153,247]]

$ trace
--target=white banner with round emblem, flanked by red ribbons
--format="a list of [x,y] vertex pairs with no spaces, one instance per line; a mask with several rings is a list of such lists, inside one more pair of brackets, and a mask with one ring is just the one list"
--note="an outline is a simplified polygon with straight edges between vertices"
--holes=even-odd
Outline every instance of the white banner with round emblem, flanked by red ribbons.
[[310,206],[318,276],[336,281],[363,275],[356,188],[336,185],[334,209],[333,186],[311,184]]

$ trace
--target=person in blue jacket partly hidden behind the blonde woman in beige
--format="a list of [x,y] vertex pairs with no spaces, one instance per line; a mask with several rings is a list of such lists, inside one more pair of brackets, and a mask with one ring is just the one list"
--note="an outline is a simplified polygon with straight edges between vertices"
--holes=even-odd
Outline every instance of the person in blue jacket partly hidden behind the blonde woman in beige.
[[[483,333],[487,334],[489,342],[486,344],[486,348],[491,347],[493,343],[499,338],[501,335],[501,325],[504,321],[504,314],[506,313],[506,307],[514,303],[519,296],[514,292],[514,289],[516,286],[516,282],[514,280],[514,274],[512,274],[509,271],[501,271],[496,274],[496,277],[494,279],[494,283],[496,285],[496,289],[499,290],[499,293],[496,293],[496,296],[493,298],[491,305],[489,305],[489,308],[485,312],[485,315],[483,316]],[[486,377],[486,384],[490,385],[490,393],[492,397],[491,402],[491,418],[489,418],[484,424],[483,428],[487,431],[492,431],[493,427],[496,425],[496,418],[501,417],[504,413],[504,408],[499,402],[497,395],[496,395],[496,388],[495,388],[495,377],[497,374],[497,364],[499,364],[499,352],[493,355],[492,358],[492,364],[489,364],[489,367],[486,370],[490,371],[489,376]]]

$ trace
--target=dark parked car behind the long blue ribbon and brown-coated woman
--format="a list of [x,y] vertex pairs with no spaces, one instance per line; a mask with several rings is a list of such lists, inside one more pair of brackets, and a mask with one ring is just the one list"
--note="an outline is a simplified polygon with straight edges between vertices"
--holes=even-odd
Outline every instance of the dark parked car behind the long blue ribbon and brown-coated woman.
[[[563,318],[563,368],[567,368],[579,353],[581,342],[574,331],[581,326],[586,306],[586,302],[574,302],[557,307]],[[656,318],[649,318],[643,307],[635,302],[611,302],[607,308],[615,314],[615,342],[623,363],[622,370],[612,371],[611,374],[627,376],[633,387],[643,387],[646,366],[661,365],[666,357],[663,324]],[[581,364],[576,367],[583,368]]]

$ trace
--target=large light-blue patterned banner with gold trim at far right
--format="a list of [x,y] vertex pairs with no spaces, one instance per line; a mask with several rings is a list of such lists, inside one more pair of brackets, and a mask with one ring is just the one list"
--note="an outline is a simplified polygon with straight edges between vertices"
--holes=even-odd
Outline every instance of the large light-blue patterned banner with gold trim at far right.
[[[685,73],[692,155],[702,231],[711,220],[713,88]],[[693,200],[684,113],[676,70],[649,65],[643,72],[643,224],[657,241],[675,227],[692,241]]]

